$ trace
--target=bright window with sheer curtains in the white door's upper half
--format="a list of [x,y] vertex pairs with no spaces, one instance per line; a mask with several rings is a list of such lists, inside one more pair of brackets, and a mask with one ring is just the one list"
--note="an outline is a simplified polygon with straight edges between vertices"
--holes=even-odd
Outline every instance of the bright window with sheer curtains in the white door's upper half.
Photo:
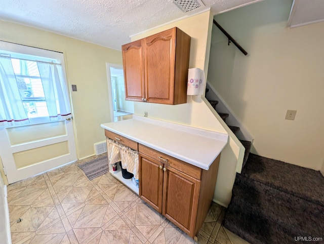
[[0,41],[0,126],[71,116],[62,63],[62,53]]

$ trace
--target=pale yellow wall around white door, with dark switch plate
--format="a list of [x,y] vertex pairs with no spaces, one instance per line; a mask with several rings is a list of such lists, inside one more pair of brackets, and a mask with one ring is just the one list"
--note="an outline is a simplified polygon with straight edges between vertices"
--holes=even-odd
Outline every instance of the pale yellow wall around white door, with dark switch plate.
[[121,52],[51,32],[0,21],[0,40],[63,52],[71,93],[78,158],[94,154],[105,139],[100,124],[110,121],[106,62],[122,64]]

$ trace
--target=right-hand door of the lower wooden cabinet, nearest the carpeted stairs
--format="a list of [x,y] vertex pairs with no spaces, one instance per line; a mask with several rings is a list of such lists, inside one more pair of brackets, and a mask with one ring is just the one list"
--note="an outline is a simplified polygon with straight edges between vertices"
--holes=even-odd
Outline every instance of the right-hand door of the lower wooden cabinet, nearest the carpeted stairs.
[[200,181],[165,166],[163,215],[194,236]]

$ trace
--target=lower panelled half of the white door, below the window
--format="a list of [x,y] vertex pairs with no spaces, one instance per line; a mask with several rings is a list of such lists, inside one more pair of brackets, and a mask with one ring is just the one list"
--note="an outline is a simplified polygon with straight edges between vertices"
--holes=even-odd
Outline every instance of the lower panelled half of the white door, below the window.
[[0,138],[9,184],[76,160],[72,120],[2,128]]

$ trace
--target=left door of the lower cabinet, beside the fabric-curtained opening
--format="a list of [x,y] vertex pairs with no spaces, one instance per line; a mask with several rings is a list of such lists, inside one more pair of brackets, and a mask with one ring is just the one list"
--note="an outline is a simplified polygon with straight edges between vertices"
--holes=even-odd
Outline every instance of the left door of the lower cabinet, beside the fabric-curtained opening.
[[159,213],[162,213],[162,166],[160,162],[139,153],[139,195]]

